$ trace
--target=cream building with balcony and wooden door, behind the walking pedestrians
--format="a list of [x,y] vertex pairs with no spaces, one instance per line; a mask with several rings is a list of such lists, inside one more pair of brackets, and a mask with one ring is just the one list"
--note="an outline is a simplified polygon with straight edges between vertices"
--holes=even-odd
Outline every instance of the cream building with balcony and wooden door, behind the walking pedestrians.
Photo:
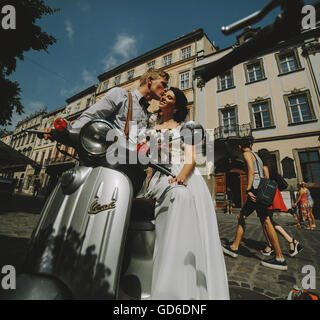
[[[238,37],[240,43],[244,39],[245,33]],[[315,61],[320,65],[320,50],[319,39],[311,41],[317,44],[311,59],[305,43],[297,43],[236,65],[206,84],[195,80],[196,120],[214,129],[218,206],[224,205],[228,184],[237,194],[238,207],[246,199],[246,173],[237,144],[247,135],[254,137],[254,151],[272,152],[291,196],[297,181],[304,180],[313,197],[320,198],[320,75],[313,68]],[[205,56],[196,74],[231,50]]]

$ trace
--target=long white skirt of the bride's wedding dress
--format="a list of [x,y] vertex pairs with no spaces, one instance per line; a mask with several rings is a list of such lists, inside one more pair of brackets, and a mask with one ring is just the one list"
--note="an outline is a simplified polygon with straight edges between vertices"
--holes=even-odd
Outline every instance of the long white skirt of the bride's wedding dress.
[[[172,165],[177,175],[183,164]],[[144,197],[156,200],[151,299],[229,299],[215,208],[197,168],[187,186],[156,172]]]

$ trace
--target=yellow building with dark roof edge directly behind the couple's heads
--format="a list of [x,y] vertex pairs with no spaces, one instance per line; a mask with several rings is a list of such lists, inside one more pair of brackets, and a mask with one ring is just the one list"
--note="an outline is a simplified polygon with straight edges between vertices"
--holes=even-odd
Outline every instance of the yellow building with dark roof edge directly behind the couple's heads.
[[[193,119],[193,69],[199,57],[215,51],[216,48],[203,29],[197,29],[99,75],[96,100],[99,100],[109,89],[115,86],[129,91],[137,89],[139,87],[139,77],[149,68],[157,68],[170,75],[169,86],[178,87],[184,91],[189,102],[189,117]],[[157,103],[154,101],[149,110],[155,108],[157,108]]]

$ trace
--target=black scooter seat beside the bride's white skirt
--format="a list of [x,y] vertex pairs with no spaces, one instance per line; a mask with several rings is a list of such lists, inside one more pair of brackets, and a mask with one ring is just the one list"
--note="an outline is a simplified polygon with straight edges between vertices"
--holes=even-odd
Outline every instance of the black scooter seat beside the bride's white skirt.
[[129,228],[132,230],[154,230],[155,201],[146,198],[134,198]]

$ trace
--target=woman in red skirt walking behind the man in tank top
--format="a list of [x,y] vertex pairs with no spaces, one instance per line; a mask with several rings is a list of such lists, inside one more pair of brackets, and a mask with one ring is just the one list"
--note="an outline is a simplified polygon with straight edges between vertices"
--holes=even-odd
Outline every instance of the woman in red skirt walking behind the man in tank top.
[[[267,149],[261,149],[258,151],[258,156],[261,158],[262,162],[263,162],[263,174],[264,177],[266,179],[271,179],[271,180],[276,180],[276,177],[278,175],[277,172],[277,168],[274,165],[273,161],[272,161],[272,156],[271,153],[267,150]],[[273,212],[274,211],[279,211],[279,212],[287,212],[288,209],[283,201],[281,192],[279,191],[279,189],[277,188],[275,197],[273,199],[273,203],[270,207],[268,207],[268,210],[270,211],[270,220],[271,223],[273,225],[273,227],[275,228],[275,230],[285,239],[289,242],[289,255],[291,257],[294,257],[295,255],[297,255],[301,250],[302,250],[302,246],[299,243],[299,241],[297,241],[296,239],[294,239],[293,237],[291,237],[284,229],[283,227],[281,227],[277,222],[275,222],[273,220]],[[264,234],[266,236],[267,239],[267,246],[263,249],[260,250],[260,252],[265,255],[265,256],[270,256],[271,254],[274,253],[274,250],[272,248],[271,242],[267,236],[267,232],[264,229]]]

